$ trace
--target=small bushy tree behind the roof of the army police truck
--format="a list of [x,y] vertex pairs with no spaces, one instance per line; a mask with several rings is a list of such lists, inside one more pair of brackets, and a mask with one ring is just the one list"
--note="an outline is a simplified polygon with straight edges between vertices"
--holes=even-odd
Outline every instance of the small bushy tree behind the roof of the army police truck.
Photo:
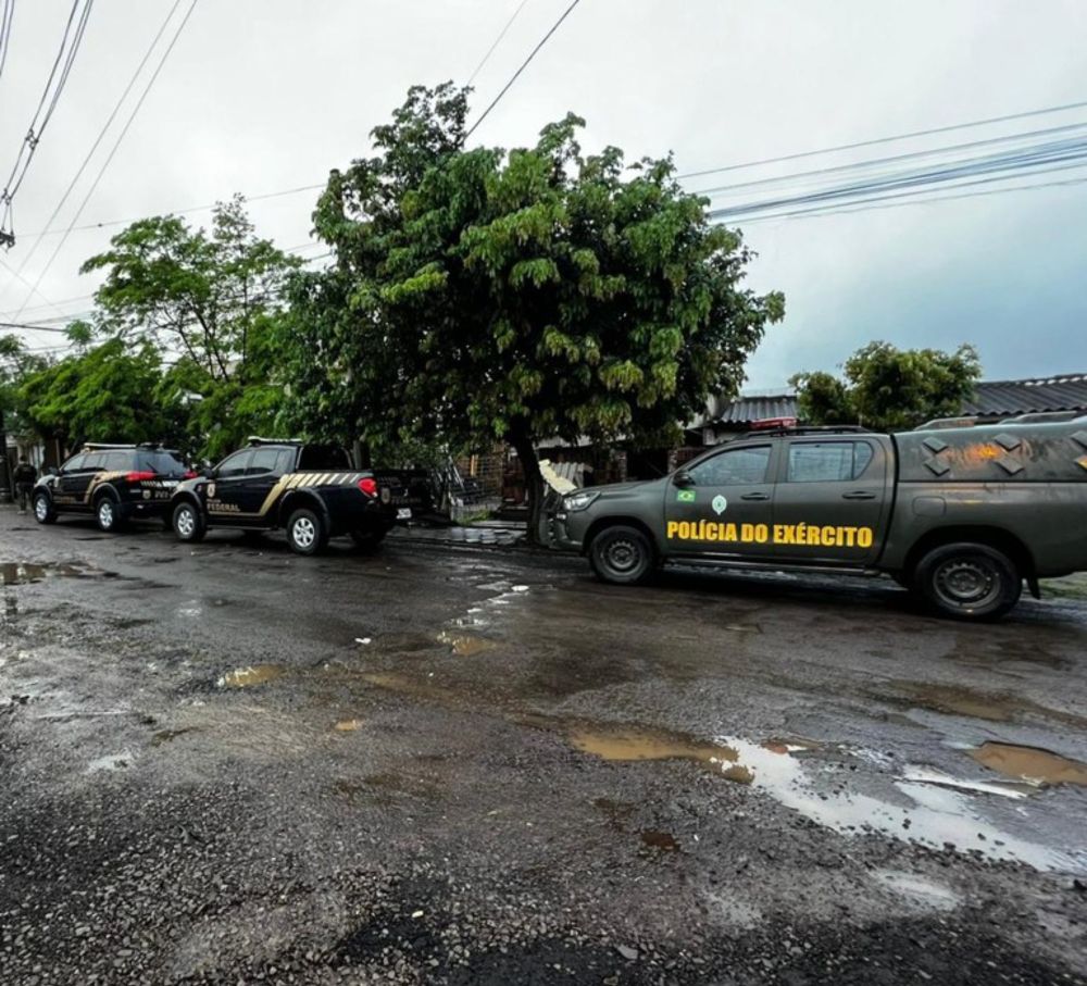
[[944,352],[870,342],[846,360],[844,371],[844,379],[822,371],[792,377],[802,420],[901,430],[951,417],[974,392],[982,365],[970,345]]

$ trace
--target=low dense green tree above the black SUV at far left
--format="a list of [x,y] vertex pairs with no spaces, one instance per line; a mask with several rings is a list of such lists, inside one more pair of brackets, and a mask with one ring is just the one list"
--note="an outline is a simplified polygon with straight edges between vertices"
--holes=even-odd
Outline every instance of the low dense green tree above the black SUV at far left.
[[178,409],[157,396],[158,350],[110,339],[28,374],[18,388],[27,422],[70,446],[84,441],[176,442],[184,437]]

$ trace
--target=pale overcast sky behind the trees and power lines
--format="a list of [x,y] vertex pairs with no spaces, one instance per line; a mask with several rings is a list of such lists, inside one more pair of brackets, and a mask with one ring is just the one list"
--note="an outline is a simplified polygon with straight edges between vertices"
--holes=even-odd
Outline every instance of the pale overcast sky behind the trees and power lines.
[[[179,14],[189,2],[182,0]],[[77,225],[322,182],[330,167],[367,152],[370,129],[410,85],[466,82],[518,3],[198,0]],[[45,228],[172,5],[97,0],[14,203],[20,240],[0,253],[32,284],[59,241],[47,236],[29,255],[33,234]],[[567,5],[528,0],[476,79],[476,112]],[[70,0],[16,3],[0,77],[0,180],[70,10]],[[1085,38],[1083,0],[582,0],[474,139],[528,143],[545,122],[574,110],[588,120],[586,150],[614,143],[632,159],[673,151],[682,173],[699,171],[1087,100]],[[54,227],[72,221],[127,114],[126,105]],[[1087,109],[742,177],[1080,121]],[[1066,175],[1087,177],[1087,166]],[[299,247],[309,240],[314,199],[253,202],[251,214],[261,234]],[[73,233],[41,295],[63,312],[85,310],[79,299],[96,282],[78,266],[118,228]],[[751,285],[782,289],[788,309],[750,362],[750,388],[834,369],[873,338],[903,347],[973,341],[989,378],[1087,372],[1087,184],[764,221],[745,235],[760,254]],[[0,317],[28,292],[0,266]],[[35,296],[21,320],[57,314]],[[57,336],[33,339],[47,346]]]

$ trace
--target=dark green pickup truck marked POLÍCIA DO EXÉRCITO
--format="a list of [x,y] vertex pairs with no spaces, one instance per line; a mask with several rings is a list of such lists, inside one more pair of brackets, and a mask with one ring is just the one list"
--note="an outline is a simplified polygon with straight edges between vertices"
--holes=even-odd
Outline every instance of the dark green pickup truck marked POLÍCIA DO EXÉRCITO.
[[886,574],[996,619],[1024,581],[1087,570],[1087,417],[883,435],[754,432],[648,483],[567,494],[555,544],[604,582],[662,564]]

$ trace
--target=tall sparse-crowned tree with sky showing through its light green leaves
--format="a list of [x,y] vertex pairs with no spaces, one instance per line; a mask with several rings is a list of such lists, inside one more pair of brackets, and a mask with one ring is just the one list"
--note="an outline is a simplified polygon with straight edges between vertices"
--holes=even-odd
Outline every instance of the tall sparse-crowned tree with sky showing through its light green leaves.
[[255,235],[236,196],[215,208],[210,232],[172,215],[133,223],[83,271],[107,272],[95,296],[99,336],[175,358],[154,392],[214,458],[279,411],[273,327],[300,263]]

